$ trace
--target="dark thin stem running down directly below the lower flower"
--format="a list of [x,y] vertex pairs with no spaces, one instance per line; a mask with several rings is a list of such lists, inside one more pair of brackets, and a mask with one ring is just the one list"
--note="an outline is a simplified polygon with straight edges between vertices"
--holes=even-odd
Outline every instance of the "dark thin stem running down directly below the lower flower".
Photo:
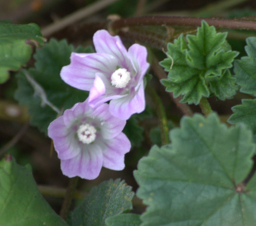
[[72,199],[74,196],[74,192],[76,190],[78,179],[79,179],[79,177],[76,176],[76,177],[70,178],[70,180],[69,180],[69,184],[68,184],[68,188],[65,193],[64,201],[63,201],[62,207],[60,209],[60,216],[64,220],[66,220],[66,218],[68,216],[68,211],[71,206],[71,202],[72,202]]

